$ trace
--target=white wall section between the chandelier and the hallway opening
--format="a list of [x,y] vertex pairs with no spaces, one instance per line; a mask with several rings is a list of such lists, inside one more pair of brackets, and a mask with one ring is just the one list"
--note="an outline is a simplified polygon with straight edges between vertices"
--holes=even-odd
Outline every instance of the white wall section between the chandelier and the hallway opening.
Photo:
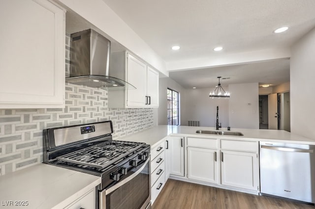
[[233,128],[259,129],[258,83],[231,84],[229,125]]

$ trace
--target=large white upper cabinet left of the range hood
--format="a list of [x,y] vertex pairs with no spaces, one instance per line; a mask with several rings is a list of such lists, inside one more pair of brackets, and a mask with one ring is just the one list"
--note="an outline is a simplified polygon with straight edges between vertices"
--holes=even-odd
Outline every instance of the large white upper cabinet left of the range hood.
[[0,108],[64,107],[65,11],[0,1]]

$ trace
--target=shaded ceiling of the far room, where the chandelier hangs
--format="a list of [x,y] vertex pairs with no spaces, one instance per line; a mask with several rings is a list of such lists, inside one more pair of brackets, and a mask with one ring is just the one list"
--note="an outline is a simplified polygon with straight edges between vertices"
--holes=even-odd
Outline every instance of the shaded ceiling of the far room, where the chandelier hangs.
[[[278,59],[266,62],[204,68],[197,70],[173,71],[169,77],[184,88],[208,88],[237,83],[272,84],[273,86],[290,81],[290,60]],[[224,79],[229,78],[229,79]]]

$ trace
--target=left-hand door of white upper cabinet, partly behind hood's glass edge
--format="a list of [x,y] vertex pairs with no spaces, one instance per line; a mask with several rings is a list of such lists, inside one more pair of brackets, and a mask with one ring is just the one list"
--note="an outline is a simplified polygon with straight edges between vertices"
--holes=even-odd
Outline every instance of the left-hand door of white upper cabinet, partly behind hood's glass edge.
[[127,82],[136,89],[127,90],[126,107],[144,107],[146,105],[147,65],[127,54]]

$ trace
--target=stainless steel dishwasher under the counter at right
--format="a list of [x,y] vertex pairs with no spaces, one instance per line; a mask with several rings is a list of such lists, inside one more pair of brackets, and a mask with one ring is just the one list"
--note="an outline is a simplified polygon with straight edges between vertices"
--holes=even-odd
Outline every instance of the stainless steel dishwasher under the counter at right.
[[259,142],[260,194],[315,203],[315,145]]

